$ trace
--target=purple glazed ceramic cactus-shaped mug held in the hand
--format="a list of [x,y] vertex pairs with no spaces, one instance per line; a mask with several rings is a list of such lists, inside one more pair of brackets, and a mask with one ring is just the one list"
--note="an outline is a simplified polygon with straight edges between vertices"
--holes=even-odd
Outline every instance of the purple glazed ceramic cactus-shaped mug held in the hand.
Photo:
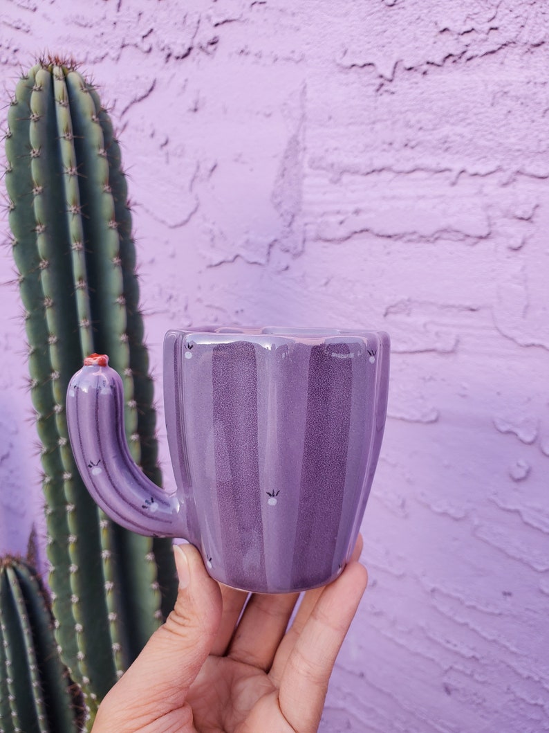
[[184,537],[217,581],[287,593],[351,556],[384,431],[389,336],[304,328],[168,331],[164,401],[175,493],[133,463],[122,380],[94,355],[70,380],[78,470],[113,520]]

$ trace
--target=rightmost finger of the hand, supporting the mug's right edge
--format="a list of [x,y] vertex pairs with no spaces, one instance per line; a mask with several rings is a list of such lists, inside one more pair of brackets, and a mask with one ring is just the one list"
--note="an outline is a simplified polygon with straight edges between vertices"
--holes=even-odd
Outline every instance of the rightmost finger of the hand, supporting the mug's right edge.
[[316,730],[330,674],[367,584],[365,567],[351,562],[318,597],[288,655],[280,679],[280,709],[296,730]]

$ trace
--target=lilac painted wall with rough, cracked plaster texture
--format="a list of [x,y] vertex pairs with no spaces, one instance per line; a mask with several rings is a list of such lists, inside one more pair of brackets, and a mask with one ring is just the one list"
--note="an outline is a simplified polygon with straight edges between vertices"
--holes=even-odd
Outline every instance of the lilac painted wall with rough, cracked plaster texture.
[[[324,733],[549,730],[548,30],[545,0],[1,2],[6,103],[46,48],[111,103],[159,399],[174,324],[392,335]],[[39,468],[9,285],[0,309],[21,550]]]

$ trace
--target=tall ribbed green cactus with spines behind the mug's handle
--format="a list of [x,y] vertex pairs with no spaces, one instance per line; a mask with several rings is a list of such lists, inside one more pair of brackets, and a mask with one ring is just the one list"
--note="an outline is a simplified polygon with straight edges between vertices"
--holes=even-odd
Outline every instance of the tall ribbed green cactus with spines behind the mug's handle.
[[100,512],[75,467],[65,418],[71,375],[89,353],[108,353],[124,380],[133,457],[160,482],[127,185],[111,120],[72,63],[32,67],[8,126],[12,251],[42,441],[56,639],[92,721],[175,594],[169,540],[140,537]]

